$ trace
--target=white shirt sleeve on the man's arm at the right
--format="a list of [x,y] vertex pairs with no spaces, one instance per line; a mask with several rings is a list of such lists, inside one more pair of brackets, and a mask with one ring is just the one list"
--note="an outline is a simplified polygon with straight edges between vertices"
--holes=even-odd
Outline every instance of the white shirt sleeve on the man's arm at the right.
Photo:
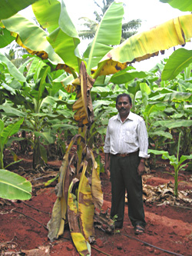
[[138,141],[139,141],[139,157],[149,158],[150,155],[147,154],[148,151],[148,135],[147,128],[144,119],[141,119],[140,125],[138,126]]

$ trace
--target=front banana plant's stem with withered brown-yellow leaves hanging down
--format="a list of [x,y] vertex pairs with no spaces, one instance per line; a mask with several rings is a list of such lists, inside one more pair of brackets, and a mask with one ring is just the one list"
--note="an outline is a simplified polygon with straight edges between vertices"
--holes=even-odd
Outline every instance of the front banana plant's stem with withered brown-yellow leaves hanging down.
[[[99,178],[98,164],[87,143],[87,130],[93,122],[91,87],[94,79],[88,76],[83,62],[80,75],[73,82],[78,100],[73,105],[74,119],[78,122],[78,135],[71,139],[63,158],[59,173],[57,200],[48,222],[48,238],[53,241],[63,234],[65,224],[71,230],[71,238],[79,254],[91,254],[89,243],[94,241],[94,208],[101,209],[103,194]],[[69,160],[74,143],[77,153]],[[71,164],[75,170],[71,171]],[[89,185],[88,178],[91,178]]]

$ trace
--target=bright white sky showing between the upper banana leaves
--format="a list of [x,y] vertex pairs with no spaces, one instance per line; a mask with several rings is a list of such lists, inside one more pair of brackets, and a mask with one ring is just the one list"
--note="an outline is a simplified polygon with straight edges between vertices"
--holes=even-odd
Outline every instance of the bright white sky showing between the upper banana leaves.
[[[98,4],[102,5],[102,0],[96,0]],[[98,10],[94,4],[94,0],[64,0],[68,15],[76,28],[79,28],[78,18],[88,17],[94,19],[94,10]],[[155,25],[160,25],[167,22],[171,18],[176,18],[180,15],[190,14],[190,12],[180,12],[176,8],[172,8],[168,4],[163,4],[159,0],[122,0],[116,2],[124,2],[124,22],[129,22],[132,19],[140,18],[142,21],[141,28],[138,32],[144,32]],[[27,18],[30,16],[30,8],[26,8],[22,11],[22,15]],[[87,48],[87,45],[81,46],[83,49]],[[179,47],[176,47],[179,48]],[[185,47],[192,49],[192,43],[187,43]],[[137,71],[149,71],[157,63],[161,62],[161,59],[167,58],[173,52],[173,48],[167,50],[165,55],[159,55],[157,57],[150,58],[143,62],[137,62],[134,67]]]

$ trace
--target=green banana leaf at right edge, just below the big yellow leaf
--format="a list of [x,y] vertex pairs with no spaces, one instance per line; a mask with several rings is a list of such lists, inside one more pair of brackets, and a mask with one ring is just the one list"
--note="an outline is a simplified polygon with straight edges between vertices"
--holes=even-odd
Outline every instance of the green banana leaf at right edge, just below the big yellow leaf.
[[176,78],[184,68],[192,62],[192,51],[186,49],[177,49],[168,58],[164,70],[161,74],[162,80],[171,80]]

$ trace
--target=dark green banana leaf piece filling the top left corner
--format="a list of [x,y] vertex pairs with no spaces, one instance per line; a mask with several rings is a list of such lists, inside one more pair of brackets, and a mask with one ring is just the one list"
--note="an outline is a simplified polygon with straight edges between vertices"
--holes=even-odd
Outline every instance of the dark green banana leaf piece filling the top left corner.
[[[33,4],[37,0],[1,0],[0,21],[15,15],[17,12]],[[16,3],[16,4],[15,4]]]

